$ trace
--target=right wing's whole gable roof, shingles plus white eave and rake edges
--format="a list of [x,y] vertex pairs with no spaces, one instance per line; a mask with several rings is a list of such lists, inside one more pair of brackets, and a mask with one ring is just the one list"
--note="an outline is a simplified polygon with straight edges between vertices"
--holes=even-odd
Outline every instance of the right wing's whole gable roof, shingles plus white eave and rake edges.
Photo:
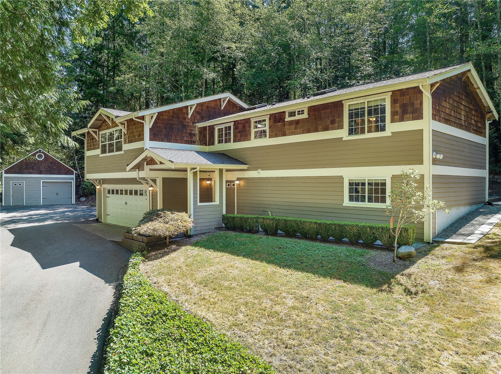
[[[466,70],[470,70],[472,77],[473,77],[473,80],[474,81],[476,80],[477,84],[476,85],[474,84],[474,85],[475,85],[475,87],[478,87],[477,92],[480,95],[480,97],[482,98],[484,105],[490,106],[493,115],[495,116],[495,118],[497,118],[497,112],[494,108],[494,105],[493,105],[492,101],[490,100],[487,92],[485,91],[480,79],[478,78],[478,75],[476,74],[476,71],[475,71],[473,65],[471,64],[471,62],[466,62],[466,63],[460,63],[460,64],[453,65],[453,66],[442,67],[439,69],[423,71],[423,72],[419,72],[419,73],[415,73],[415,74],[403,75],[403,76],[399,76],[396,78],[378,80],[378,81],[371,82],[371,83],[365,83],[365,84],[355,85],[352,87],[341,88],[341,89],[333,90],[331,92],[327,92],[324,94],[319,94],[316,96],[310,96],[310,97],[307,96],[306,98],[301,97],[301,98],[297,98],[294,100],[288,100],[288,101],[278,102],[278,103],[274,103],[274,104],[263,105],[263,106],[260,106],[258,108],[252,109],[252,110],[241,111],[239,113],[225,115],[224,117],[219,117],[216,119],[211,119],[208,121],[199,122],[199,123],[197,123],[197,125],[199,127],[201,127],[201,126],[207,126],[210,124],[222,123],[222,122],[228,121],[229,119],[248,118],[248,117],[251,117],[254,115],[261,115],[261,114],[264,115],[264,114],[268,114],[268,113],[272,113],[272,112],[284,111],[284,110],[287,110],[287,106],[298,105],[298,104],[301,104],[303,102],[305,103],[305,105],[314,105],[315,101],[319,101],[319,100],[324,99],[324,98],[339,96],[339,95],[357,92],[357,91],[363,91],[363,90],[370,89],[370,88],[384,87],[384,86],[392,85],[392,84],[412,82],[412,81],[416,81],[416,84],[418,84],[419,80],[424,80],[424,79],[426,79],[427,83],[429,84],[429,83],[436,82],[440,79],[444,79],[448,76],[455,75],[455,74],[458,74],[458,73],[466,71]],[[277,109],[277,108],[282,108],[282,107],[284,107],[284,108]]]

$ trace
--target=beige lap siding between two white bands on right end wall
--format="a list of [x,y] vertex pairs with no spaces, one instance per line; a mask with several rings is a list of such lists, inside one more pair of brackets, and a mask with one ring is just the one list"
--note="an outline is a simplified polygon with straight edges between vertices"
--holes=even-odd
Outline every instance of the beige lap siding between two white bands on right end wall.
[[443,158],[432,158],[433,165],[485,169],[485,144],[432,131],[432,150]]

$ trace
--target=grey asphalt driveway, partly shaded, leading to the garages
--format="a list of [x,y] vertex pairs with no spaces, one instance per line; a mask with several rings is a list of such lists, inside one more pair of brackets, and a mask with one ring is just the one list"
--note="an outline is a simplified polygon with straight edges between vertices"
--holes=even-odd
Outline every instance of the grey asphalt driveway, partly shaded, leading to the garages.
[[131,253],[73,224],[93,207],[0,209],[0,371],[97,372]]

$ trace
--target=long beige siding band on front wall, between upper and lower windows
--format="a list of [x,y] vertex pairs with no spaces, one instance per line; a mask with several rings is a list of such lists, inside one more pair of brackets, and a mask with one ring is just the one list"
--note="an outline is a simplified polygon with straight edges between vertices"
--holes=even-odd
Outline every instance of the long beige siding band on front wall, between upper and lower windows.
[[312,167],[420,165],[423,130],[396,131],[391,136],[311,140],[224,150],[249,164],[247,170]]

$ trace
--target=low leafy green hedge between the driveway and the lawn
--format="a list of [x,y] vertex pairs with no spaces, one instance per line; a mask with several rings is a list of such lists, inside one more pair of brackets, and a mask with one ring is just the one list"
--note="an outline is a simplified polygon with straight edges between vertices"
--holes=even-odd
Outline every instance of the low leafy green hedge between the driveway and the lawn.
[[134,253],[123,279],[103,372],[271,374],[267,362],[182,309],[139,270]]

